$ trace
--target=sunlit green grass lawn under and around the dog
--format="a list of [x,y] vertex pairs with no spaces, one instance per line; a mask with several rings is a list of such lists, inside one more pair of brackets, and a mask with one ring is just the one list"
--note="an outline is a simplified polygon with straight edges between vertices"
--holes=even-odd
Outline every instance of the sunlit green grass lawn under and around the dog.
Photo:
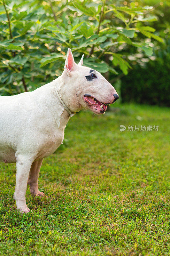
[[[116,110],[70,119],[41,168],[46,196],[27,188],[31,214],[16,211],[15,164],[0,164],[0,255],[170,255],[169,109]],[[120,132],[120,124],[159,128]]]

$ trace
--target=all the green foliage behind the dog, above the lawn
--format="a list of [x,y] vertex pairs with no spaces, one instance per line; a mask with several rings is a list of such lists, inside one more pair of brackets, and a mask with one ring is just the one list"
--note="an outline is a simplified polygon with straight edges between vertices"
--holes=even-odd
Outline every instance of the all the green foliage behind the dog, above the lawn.
[[0,94],[32,91],[75,61],[123,101],[169,104],[170,1],[0,0]]

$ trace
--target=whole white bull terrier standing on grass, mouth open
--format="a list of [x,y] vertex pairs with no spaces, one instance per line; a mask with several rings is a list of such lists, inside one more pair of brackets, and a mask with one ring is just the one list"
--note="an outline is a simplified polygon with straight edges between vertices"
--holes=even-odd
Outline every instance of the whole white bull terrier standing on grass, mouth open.
[[70,116],[82,108],[103,114],[105,104],[119,98],[99,72],[82,64],[83,56],[77,65],[68,48],[64,71],[57,79],[33,92],[0,96],[0,161],[16,163],[14,199],[20,212],[30,211],[27,183],[32,194],[44,195],[38,189],[40,167],[62,143]]

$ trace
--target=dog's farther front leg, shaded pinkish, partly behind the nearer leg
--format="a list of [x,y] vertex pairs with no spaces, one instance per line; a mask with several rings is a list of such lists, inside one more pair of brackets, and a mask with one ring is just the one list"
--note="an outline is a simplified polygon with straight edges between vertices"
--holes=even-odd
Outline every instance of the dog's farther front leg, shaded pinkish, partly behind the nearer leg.
[[38,176],[40,173],[40,168],[41,168],[42,163],[43,163],[43,159],[40,159],[40,160],[32,163],[31,169],[29,172],[27,184],[29,184],[29,186],[30,186],[31,194],[33,194],[35,196],[44,196],[44,193],[39,191],[39,189],[38,189]]

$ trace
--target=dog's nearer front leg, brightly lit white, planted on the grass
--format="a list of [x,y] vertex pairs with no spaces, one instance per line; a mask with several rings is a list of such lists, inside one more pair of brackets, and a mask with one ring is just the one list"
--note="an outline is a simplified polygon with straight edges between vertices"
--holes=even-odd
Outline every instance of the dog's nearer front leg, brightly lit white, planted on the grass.
[[30,212],[27,207],[25,194],[27,189],[27,180],[33,160],[24,156],[17,156],[17,174],[14,199],[16,200],[18,212]]

